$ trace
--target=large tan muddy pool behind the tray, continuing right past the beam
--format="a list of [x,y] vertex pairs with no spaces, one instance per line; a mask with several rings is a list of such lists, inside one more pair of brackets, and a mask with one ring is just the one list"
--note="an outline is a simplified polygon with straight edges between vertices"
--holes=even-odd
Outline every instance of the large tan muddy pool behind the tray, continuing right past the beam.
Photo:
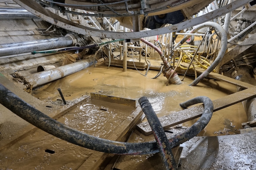
[[[145,74],[145,71],[141,71]],[[106,65],[89,67],[73,75],[57,80],[50,85],[38,88],[33,92],[45,102],[55,101],[62,103],[57,88],[61,88],[67,101],[72,101],[83,95],[97,92],[105,95],[113,95],[122,98],[138,99],[146,96],[151,102],[158,116],[173,114],[182,110],[179,103],[190,98],[205,95],[211,100],[222,98],[236,92],[236,86],[218,80],[206,79],[197,86],[188,86],[193,77],[186,77],[182,85],[168,85],[167,79],[162,75],[157,79],[151,79],[157,75],[157,71],[150,70],[145,77],[137,70]],[[214,112],[211,121],[200,135],[214,136],[239,133],[241,123],[246,122],[247,117],[241,103]],[[195,121],[186,122],[184,126],[190,126]]]

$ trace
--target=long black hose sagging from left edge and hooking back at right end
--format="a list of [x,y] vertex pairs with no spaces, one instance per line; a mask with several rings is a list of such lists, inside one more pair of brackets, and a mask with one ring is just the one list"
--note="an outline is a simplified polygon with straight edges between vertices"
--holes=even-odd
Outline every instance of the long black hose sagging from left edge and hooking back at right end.
[[[38,127],[39,129],[42,129],[43,131],[69,143],[73,143],[84,148],[119,155],[141,155],[159,152],[157,148],[157,143],[154,141],[144,143],[116,142],[112,140],[94,137],[67,127],[66,125],[50,118],[49,116],[35,109],[33,106],[29,105],[28,103],[20,99],[17,95],[12,93],[10,90],[5,88],[2,84],[0,84],[0,103],[16,115],[20,116],[22,119]],[[198,123],[196,122],[196,125],[194,124],[195,126],[191,126],[191,132],[189,128],[186,130],[186,132],[181,132],[169,139],[171,148],[191,139],[192,137],[197,135],[195,134],[195,132],[199,133],[207,125],[208,122],[202,121],[201,119],[206,119],[205,114],[208,115],[208,112],[210,111],[212,115],[213,104],[211,102],[210,105],[210,101],[208,100],[207,103],[204,101],[204,104],[205,109],[203,115],[197,121]],[[207,120],[209,121],[210,119]],[[201,125],[202,123],[203,125]]]

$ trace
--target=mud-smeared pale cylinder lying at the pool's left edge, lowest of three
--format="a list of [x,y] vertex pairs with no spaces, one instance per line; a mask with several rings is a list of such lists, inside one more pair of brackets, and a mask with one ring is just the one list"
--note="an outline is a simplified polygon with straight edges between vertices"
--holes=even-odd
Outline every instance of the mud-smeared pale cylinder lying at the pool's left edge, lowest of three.
[[26,84],[30,84],[33,86],[33,88],[35,88],[39,85],[43,85],[54,80],[58,80],[62,77],[71,75],[75,72],[79,72],[80,70],[90,67],[91,65],[93,65],[93,59],[82,60],[72,64],[67,64],[61,67],[32,74],[31,76],[24,77],[24,80]]

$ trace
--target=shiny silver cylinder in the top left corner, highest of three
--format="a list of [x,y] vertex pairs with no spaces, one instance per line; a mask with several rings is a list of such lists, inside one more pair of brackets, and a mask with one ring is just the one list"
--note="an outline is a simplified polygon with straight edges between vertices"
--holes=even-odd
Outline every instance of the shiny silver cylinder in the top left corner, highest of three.
[[31,20],[38,18],[23,8],[0,8],[0,20]]

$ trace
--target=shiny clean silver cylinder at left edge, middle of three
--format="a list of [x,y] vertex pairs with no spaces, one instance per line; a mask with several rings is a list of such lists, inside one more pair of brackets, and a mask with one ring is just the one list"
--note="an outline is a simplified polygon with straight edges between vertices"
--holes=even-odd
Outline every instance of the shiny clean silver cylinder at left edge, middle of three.
[[60,47],[67,47],[73,44],[72,38],[60,37],[43,40],[25,41],[17,43],[0,44],[0,56],[10,56],[33,51],[42,51]]

